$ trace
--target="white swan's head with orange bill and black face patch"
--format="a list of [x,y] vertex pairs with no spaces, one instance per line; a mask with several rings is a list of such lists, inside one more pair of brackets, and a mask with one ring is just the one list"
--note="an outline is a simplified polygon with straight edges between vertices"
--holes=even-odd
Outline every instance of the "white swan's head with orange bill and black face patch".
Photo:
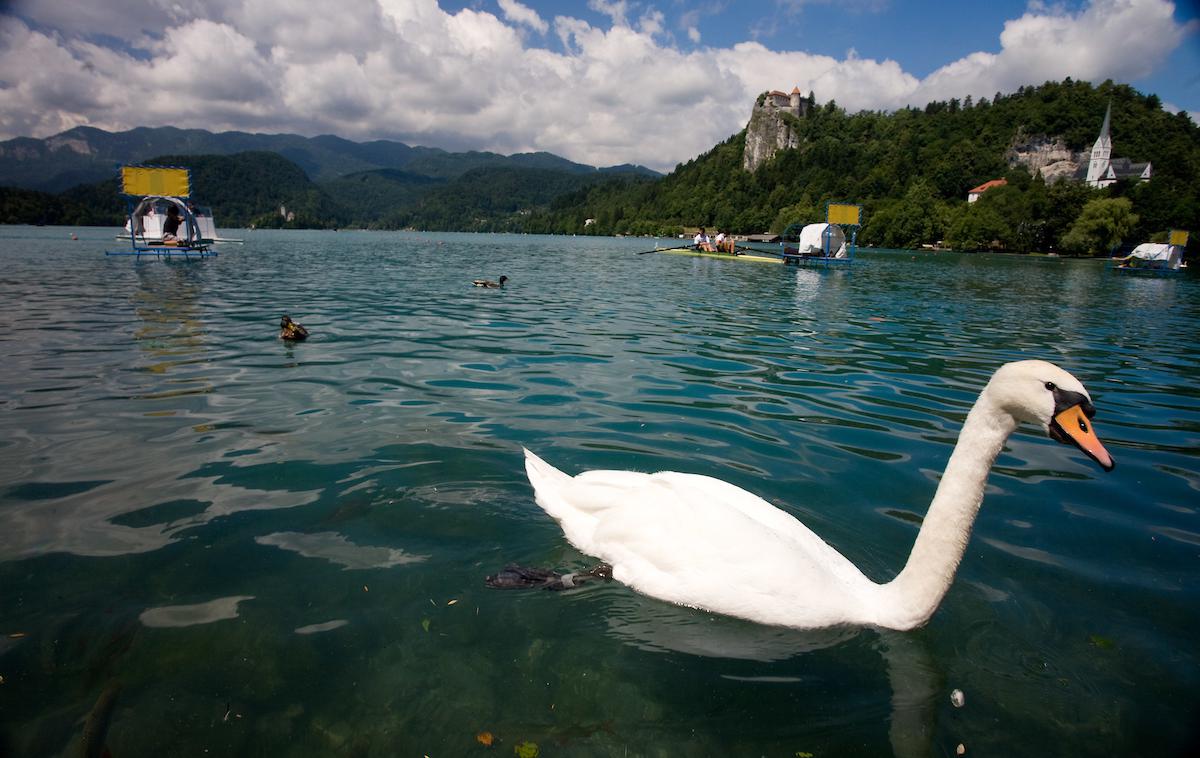
[[1112,470],[1112,456],[1092,428],[1092,397],[1069,373],[1046,361],[1006,363],[986,392],[1018,421],[1040,426],[1055,441],[1075,445],[1105,471]]

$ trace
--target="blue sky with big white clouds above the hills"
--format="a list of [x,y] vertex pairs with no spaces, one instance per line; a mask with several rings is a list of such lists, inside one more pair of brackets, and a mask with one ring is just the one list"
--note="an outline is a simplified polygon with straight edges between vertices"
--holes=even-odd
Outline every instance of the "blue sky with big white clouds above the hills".
[[0,139],[179,126],[668,172],[767,90],[893,110],[1066,77],[1200,122],[1198,5],[0,0]]

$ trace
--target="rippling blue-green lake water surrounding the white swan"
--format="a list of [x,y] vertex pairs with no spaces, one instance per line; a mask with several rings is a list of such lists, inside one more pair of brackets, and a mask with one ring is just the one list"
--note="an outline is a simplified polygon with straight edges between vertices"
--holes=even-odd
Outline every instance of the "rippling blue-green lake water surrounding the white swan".
[[[103,254],[114,233],[0,227],[0,754],[106,727],[115,758],[436,758],[484,732],[504,756],[1194,747],[1200,279],[361,231],[138,263]],[[312,337],[281,342],[282,313]],[[484,585],[593,564],[522,446],[724,479],[889,579],[978,391],[1024,357],[1085,383],[1117,468],[1015,434],[922,630]]]

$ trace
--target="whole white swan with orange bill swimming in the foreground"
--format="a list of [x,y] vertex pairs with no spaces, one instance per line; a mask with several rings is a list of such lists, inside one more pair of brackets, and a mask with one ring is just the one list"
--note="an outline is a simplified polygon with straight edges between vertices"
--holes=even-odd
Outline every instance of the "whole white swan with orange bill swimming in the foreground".
[[526,450],[538,505],[580,551],[637,591],[761,624],[910,630],[954,579],[992,462],[1019,422],[1074,443],[1105,470],[1084,385],[1045,361],[1002,366],[967,415],[904,570],[868,579],[799,521],[739,487],[664,471],[568,476]]

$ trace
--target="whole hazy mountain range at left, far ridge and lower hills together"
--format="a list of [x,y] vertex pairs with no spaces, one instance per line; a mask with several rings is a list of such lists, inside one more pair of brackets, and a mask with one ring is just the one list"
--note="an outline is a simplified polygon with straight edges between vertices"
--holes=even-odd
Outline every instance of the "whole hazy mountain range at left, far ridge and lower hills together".
[[182,166],[224,227],[510,228],[564,194],[660,175],[550,152],[448,152],[340,137],[77,127],[0,143],[0,223],[120,224],[116,168]]

